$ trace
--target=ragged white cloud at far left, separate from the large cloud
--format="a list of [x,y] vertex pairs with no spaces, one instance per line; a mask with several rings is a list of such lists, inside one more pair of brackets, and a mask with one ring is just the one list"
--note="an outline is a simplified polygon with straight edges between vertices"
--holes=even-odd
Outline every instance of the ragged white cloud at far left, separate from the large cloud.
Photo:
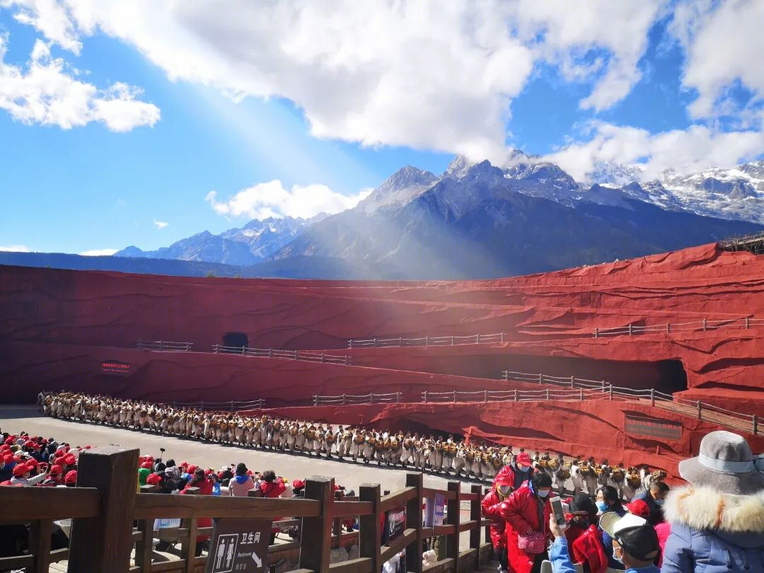
[[99,89],[76,79],[50,44],[36,40],[27,70],[5,63],[8,34],[0,34],[0,109],[25,124],[70,129],[99,121],[112,131],[130,131],[159,121],[156,105],[135,99],[140,89],[114,83]]

